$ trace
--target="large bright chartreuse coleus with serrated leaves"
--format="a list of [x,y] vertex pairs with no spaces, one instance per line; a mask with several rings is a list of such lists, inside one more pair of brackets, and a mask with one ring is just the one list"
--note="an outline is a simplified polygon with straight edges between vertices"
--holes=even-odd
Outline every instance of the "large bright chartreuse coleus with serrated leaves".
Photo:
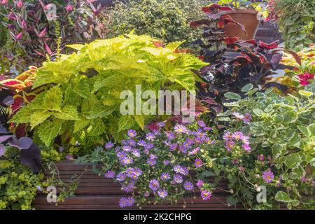
[[118,138],[128,128],[144,128],[152,116],[123,116],[120,104],[125,99],[120,99],[120,93],[130,90],[135,96],[136,85],[141,85],[142,91],[193,92],[198,79],[193,70],[207,63],[176,51],[180,44],[169,43],[163,48],[150,36],[129,34],[70,45],[78,52],[45,62],[36,71],[33,87],[44,85],[46,90],[10,122],[29,124],[34,139],[46,146],[56,137],[64,145],[97,144],[106,134]]

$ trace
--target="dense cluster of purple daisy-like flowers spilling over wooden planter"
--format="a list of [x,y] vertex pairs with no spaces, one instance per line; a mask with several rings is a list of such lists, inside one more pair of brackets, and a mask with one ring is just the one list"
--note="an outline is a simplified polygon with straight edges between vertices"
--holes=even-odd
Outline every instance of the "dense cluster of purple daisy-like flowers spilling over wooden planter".
[[177,124],[171,130],[166,130],[164,123],[148,128],[145,134],[129,130],[118,146],[112,142],[105,145],[104,156],[115,164],[106,167],[104,177],[119,182],[125,193],[132,194],[120,199],[120,207],[162,200],[176,203],[195,191],[209,200],[210,188],[198,187],[191,174],[207,167],[208,158],[203,155],[216,143],[210,138],[211,127],[199,120],[189,126]]

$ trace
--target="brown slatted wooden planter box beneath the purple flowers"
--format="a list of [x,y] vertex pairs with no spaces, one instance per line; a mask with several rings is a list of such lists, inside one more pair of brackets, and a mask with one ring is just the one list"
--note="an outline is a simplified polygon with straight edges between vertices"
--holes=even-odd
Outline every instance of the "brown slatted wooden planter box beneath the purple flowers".
[[[118,201],[120,197],[128,196],[120,190],[120,184],[113,183],[111,179],[104,179],[104,176],[97,176],[91,172],[90,165],[74,165],[73,162],[65,160],[57,163],[60,179],[63,181],[71,180],[73,174],[80,176],[78,180],[78,188],[75,191],[75,197],[66,198],[64,202],[59,202],[56,206],[55,203],[48,203],[46,195],[38,193],[36,200],[33,202],[35,209],[120,209]],[[50,173],[45,172],[45,176],[49,177]],[[211,179],[210,179],[211,181]],[[219,188],[228,190],[227,182],[222,181]],[[240,206],[228,207],[226,197],[230,195],[223,190],[214,190],[211,200],[204,201],[200,196],[196,199],[193,197],[186,197],[184,200],[179,201],[178,204],[170,204],[165,202],[163,204],[146,205],[143,209],[184,209],[183,205],[186,202],[186,209],[204,209],[204,210],[235,210],[241,209]],[[223,202],[223,203],[222,203]],[[125,208],[138,209],[137,207]]]

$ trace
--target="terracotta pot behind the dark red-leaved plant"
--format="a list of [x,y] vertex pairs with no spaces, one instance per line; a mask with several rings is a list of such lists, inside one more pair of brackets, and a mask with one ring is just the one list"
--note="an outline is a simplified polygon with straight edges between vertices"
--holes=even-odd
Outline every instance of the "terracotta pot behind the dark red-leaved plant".
[[242,40],[250,40],[255,38],[258,29],[259,21],[257,20],[257,11],[250,9],[237,9],[235,12],[229,13],[233,20],[244,25],[246,33],[241,30],[241,27],[235,24],[225,26],[225,34],[228,36],[238,36]]

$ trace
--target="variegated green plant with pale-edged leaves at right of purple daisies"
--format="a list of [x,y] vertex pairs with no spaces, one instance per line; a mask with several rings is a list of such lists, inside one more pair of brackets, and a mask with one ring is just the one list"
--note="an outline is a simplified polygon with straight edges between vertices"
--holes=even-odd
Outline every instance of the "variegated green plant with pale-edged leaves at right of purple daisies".
[[[230,109],[217,118],[227,127],[225,148],[209,153],[218,158],[211,171],[224,174],[234,192],[228,202],[248,209],[276,209],[279,202],[288,209],[314,209],[314,92],[279,97],[272,89],[257,92],[251,84],[243,91],[244,99],[228,94],[239,100],[225,104]],[[251,137],[245,154],[235,144],[242,133]],[[264,187],[266,201],[258,203],[256,196]]]

